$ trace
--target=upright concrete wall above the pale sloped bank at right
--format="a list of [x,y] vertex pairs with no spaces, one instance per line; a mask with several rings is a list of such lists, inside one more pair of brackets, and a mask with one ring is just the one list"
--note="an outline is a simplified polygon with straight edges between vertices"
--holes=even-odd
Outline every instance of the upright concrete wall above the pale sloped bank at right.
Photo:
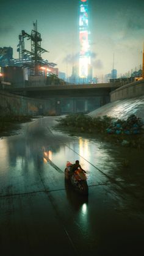
[[126,84],[110,92],[110,102],[125,98],[135,98],[144,95],[144,80]]

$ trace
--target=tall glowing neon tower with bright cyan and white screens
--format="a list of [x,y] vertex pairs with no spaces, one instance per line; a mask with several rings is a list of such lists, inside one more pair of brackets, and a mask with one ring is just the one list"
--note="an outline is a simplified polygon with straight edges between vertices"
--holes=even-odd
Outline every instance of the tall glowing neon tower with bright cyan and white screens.
[[88,0],[79,0],[79,78],[88,78],[90,65],[90,46],[88,42]]

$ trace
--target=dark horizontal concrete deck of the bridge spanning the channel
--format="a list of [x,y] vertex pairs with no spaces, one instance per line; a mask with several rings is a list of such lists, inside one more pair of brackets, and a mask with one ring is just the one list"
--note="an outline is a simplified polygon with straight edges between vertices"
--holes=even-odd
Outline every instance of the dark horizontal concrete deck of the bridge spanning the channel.
[[103,84],[74,84],[67,86],[37,86],[6,89],[10,93],[23,95],[32,98],[49,97],[92,97],[109,96],[112,90],[120,87],[120,83]]

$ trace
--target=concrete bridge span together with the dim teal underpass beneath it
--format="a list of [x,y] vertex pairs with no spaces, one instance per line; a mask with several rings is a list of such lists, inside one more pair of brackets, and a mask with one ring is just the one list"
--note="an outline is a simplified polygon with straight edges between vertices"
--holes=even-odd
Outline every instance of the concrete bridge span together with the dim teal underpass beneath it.
[[[71,86],[24,87],[9,89],[10,93],[47,101],[53,114],[90,112],[110,102],[110,92],[120,84],[88,84]],[[40,114],[46,109],[41,104]]]

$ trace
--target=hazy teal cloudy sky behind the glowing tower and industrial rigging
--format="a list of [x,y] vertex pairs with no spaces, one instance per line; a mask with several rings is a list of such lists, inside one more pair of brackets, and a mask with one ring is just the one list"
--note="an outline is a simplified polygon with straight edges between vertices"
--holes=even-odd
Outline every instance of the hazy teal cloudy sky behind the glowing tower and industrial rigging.
[[[88,9],[93,76],[111,72],[113,54],[118,75],[142,64],[144,1],[89,0]],[[41,47],[49,51],[43,59],[70,76],[79,53],[79,0],[1,0],[0,47],[11,46],[18,58],[18,35],[31,34],[35,20]]]

